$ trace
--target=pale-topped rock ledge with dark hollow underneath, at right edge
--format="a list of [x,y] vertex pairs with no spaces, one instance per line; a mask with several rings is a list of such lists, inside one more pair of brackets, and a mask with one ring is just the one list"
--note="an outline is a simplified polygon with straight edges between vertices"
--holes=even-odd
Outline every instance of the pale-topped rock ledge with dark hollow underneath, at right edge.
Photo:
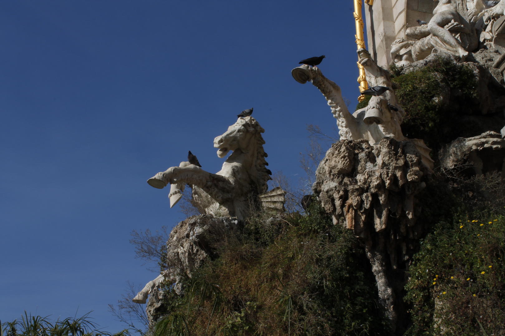
[[440,165],[449,175],[463,173],[482,175],[491,171],[505,171],[505,140],[494,131],[480,136],[458,138],[439,152]]

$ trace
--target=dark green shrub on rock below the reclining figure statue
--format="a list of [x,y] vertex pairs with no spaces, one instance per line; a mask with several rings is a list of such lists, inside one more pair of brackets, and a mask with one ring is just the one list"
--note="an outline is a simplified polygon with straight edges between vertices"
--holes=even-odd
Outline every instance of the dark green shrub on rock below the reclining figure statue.
[[401,129],[408,138],[423,139],[436,151],[458,137],[484,131],[461,118],[479,107],[477,81],[469,66],[440,57],[408,74],[392,65],[391,77],[400,86],[396,96],[406,111]]

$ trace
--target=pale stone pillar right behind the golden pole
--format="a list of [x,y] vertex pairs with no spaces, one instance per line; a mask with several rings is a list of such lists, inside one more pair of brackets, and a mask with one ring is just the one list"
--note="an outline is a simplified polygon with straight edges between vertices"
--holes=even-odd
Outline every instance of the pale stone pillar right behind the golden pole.
[[368,50],[379,66],[391,64],[391,43],[405,38],[408,27],[418,25],[416,20],[429,22],[437,2],[433,0],[374,0],[365,5]]

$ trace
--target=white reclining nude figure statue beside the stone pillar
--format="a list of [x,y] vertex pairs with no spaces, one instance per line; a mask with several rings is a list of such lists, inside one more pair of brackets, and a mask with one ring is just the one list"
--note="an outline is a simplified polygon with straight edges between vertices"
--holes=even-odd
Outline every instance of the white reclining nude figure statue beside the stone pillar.
[[406,65],[426,58],[434,49],[466,58],[478,46],[476,24],[485,11],[482,0],[440,0],[427,25],[407,28],[412,40],[399,38],[392,43],[391,59]]

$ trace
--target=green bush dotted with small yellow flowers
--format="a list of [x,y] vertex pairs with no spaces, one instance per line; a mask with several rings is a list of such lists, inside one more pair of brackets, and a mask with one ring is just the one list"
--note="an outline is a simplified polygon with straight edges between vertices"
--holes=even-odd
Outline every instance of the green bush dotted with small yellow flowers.
[[[477,213],[437,223],[421,241],[404,300],[406,335],[505,333],[505,218]],[[479,325],[479,323],[482,325]]]

